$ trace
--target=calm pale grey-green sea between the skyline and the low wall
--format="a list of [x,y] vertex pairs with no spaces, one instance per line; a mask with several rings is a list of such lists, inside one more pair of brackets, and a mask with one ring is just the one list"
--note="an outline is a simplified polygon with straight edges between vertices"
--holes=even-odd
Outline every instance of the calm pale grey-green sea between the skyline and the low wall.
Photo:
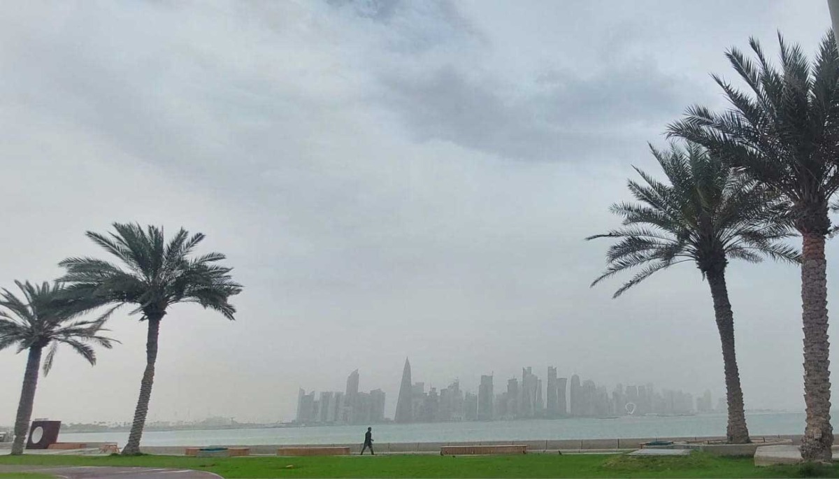
[[[746,414],[752,435],[799,435],[805,414]],[[147,431],[143,445],[341,444],[362,440],[361,426],[319,426],[243,430]],[[468,440],[563,440],[635,437],[719,436],[726,434],[724,414],[696,416],[623,416],[617,419],[555,419],[438,424],[377,424],[373,437],[384,442]],[[111,441],[124,445],[128,432],[61,434],[66,442]]]

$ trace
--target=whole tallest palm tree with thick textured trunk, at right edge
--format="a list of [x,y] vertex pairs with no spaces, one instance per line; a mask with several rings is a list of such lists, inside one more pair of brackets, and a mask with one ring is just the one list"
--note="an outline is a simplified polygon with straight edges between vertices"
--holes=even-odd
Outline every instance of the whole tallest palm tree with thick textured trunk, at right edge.
[[831,231],[828,204],[839,189],[839,54],[828,33],[810,62],[798,45],[778,35],[780,67],[763,55],[727,51],[748,89],[722,77],[731,106],[724,112],[690,107],[670,125],[670,135],[701,143],[732,167],[775,190],[789,202],[789,216],[802,237],[804,398],[807,423],[801,456],[831,461],[830,343],[827,337],[825,238]]

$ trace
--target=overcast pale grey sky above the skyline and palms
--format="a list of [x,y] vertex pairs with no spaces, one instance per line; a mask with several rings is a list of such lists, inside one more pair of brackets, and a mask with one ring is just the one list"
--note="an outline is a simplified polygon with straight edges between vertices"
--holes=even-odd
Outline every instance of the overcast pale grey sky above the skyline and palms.
[[[405,357],[436,387],[554,365],[716,403],[696,268],[612,300],[619,280],[588,287],[608,243],[583,238],[618,225],[668,122],[723,106],[728,47],[774,55],[780,30],[812,54],[828,28],[823,0],[0,3],[0,284],[103,257],[84,232],[112,221],[206,233],[237,320],[169,312],[150,420],[293,419],[298,388],[356,368],[390,415]],[[747,408],[803,409],[798,271],[728,281]],[[111,327],[96,367],[60,351],[34,417],[132,418],[145,324]],[[0,424],[25,359],[0,352]]]

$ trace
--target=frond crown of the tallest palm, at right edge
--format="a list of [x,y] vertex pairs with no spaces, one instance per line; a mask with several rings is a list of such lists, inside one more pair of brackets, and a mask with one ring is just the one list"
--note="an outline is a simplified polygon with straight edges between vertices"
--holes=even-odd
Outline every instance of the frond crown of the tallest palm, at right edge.
[[748,91],[713,75],[732,107],[722,113],[690,107],[669,132],[703,144],[782,193],[800,232],[826,234],[827,203],[839,189],[836,40],[828,32],[810,65],[799,45],[789,45],[780,34],[778,39],[780,69],[766,59],[757,39],[749,39],[754,59],[737,48],[728,50]]

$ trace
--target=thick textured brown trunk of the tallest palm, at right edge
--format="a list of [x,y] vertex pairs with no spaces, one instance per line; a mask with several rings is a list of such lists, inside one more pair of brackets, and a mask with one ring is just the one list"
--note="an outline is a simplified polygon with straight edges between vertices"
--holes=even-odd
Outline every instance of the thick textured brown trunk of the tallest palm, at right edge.
[[803,233],[801,303],[804,325],[804,400],[807,425],[801,440],[805,461],[831,461],[830,341],[827,336],[825,236]]

